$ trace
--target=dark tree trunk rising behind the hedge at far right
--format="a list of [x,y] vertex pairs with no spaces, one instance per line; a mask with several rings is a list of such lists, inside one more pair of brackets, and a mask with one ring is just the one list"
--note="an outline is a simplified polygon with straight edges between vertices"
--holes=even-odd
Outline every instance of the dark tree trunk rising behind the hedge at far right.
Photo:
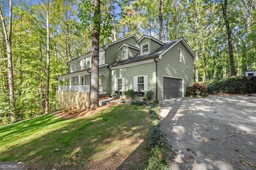
[[231,29],[230,29],[229,21],[228,21],[228,17],[227,17],[227,3],[228,3],[228,0],[224,0],[224,4],[221,4],[221,6],[222,6],[222,11],[223,11],[223,18],[224,18],[226,29],[227,29],[227,33],[228,33],[230,76],[235,76],[236,75],[236,71],[235,71],[235,67],[234,67],[234,55],[233,55]]

